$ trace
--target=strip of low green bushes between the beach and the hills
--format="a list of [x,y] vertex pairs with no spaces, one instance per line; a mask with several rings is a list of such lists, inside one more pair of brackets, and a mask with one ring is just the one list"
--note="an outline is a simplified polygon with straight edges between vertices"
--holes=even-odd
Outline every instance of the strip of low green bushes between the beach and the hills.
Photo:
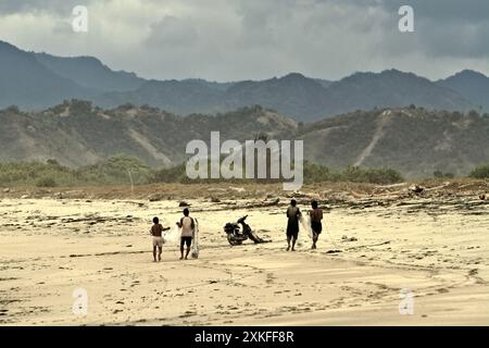
[[[233,179],[244,182],[247,179]],[[304,182],[353,182],[392,184],[402,182],[402,176],[390,169],[329,170],[323,165],[305,162]],[[152,170],[135,157],[117,154],[93,165],[70,169],[55,160],[40,162],[0,163],[0,186],[83,186],[83,185],[142,185],[150,183],[218,183],[222,179],[197,179],[187,177],[185,163],[164,170]],[[254,179],[254,183],[274,183],[273,179]]]

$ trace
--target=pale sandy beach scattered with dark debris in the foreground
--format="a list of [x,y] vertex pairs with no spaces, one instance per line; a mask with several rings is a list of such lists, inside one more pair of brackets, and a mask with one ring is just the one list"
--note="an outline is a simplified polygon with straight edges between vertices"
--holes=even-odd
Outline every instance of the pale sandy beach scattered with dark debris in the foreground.
[[[260,207],[226,200],[223,189],[221,199],[186,199],[200,224],[199,259],[179,261],[178,247],[165,245],[156,263],[151,219],[173,226],[180,199],[40,196],[0,199],[1,325],[489,323],[489,201],[474,195],[326,200],[318,249],[301,233],[287,252],[287,197]],[[246,214],[272,243],[228,245],[224,224]],[[72,310],[77,288],[88,295],[86,315]],[[400,313],[403,289],[412,314]]]

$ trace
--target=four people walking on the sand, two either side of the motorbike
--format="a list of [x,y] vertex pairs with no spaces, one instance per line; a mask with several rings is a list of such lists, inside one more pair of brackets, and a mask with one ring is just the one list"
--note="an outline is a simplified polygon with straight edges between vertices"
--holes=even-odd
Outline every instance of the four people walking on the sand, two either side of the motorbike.
[[[311,249],[316,249],[317,239],[323,231],[323,210],[318,208],[317,201],[315,200],[311,202],[311,208],[312,210],[309,211],[313,241]],[[296,251],[296,243],[299,237],[299,222],[301,221],[301,217],[302,212],[299,207],[297,207],[297,201],[292,199],[290,206],[287,208],[287,251]],[[176,225],[180,228],[180,260],[187,260],[196,231],[196,221],[190,216],[188,208],[184,209],[184,216]],[[153,237],[154,262],[161,261],[163,244],[165,243],[163,232],[168,229],[170,227],[163,227],[159,217],[153,217],[153,225],[150,228],[150,234]],[[186,250],[185,246],[187,246]],[[184,251],[186,251],[185,256]]]

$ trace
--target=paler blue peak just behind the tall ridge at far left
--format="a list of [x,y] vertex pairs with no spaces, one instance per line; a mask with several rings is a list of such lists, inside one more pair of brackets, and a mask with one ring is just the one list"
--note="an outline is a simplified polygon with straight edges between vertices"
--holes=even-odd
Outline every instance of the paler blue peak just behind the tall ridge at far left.
[[114,72],[92,57],[55,57],[34,53],[35,58],[55,74],[80,86],[99,91],[126,91],[139,88],[145,79],[134,73]]

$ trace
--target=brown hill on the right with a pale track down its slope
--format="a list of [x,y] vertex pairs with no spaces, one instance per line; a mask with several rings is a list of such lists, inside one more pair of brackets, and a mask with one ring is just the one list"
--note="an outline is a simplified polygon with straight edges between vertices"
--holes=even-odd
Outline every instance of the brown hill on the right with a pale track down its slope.
[[358,111],[304,125],[304,156],[329,167],[388,166],[406,177],[457,176],[489,161],[489,116],[421,108]]

